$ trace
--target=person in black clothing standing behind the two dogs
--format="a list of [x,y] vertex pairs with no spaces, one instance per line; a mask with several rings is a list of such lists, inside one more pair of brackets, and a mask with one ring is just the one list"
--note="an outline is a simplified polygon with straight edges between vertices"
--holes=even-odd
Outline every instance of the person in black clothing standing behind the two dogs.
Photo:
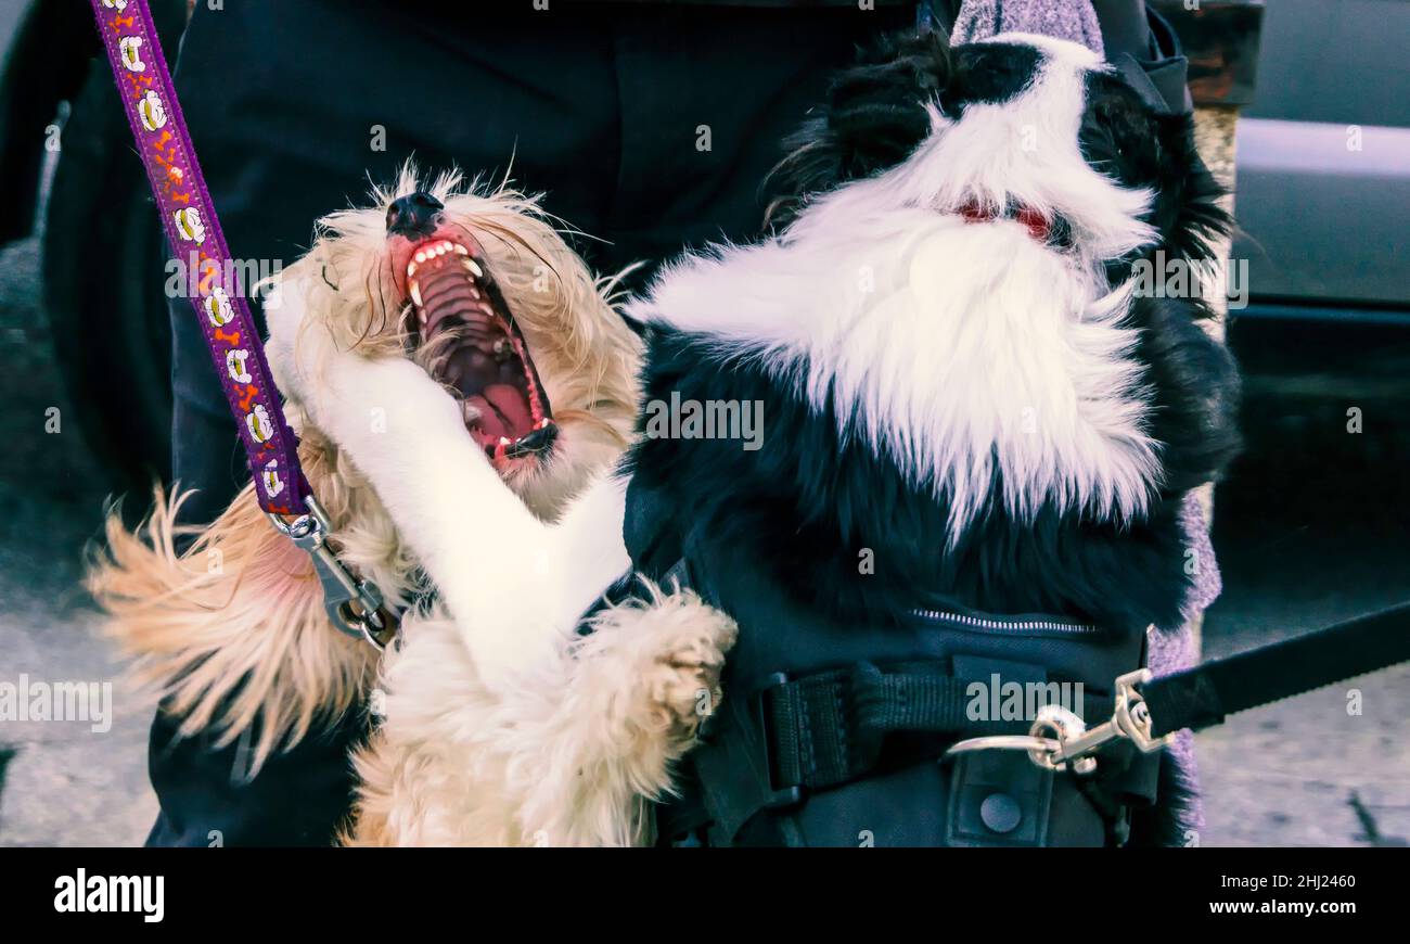
[[[943,28],[959,6],[919,13]],[[1151,32],[1141,0],[1094,6],[1108,59],[1128,54],[1153,93],[1183,95],[1183,59],[1162,55],[1166,37]],[[918,17],[918,4],[885,0],[485,7],[196,4],[176,87],[231,251],[292,262],[313,220],[415,157],[509,172],[605,240],[575,241],[591,267],[646,261],[643,279],[682,248],[756,236],[780,143],[830,72]],[[171,317],[173,476],[197,490],[185,519],[204,522],[250,473],[189,305],[172,302]],[[161,814],[148,844],[329,844],[351,806],[348,752],[365,722],[350,713],[245,779],[240,744],[183,739],[179,718],[158,711],[149,772]]]

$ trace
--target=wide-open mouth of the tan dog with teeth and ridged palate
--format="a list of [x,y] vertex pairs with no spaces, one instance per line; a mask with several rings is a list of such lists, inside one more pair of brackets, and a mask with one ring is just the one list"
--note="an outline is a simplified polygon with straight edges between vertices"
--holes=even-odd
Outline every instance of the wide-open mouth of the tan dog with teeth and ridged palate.
[[547,457],[558,435],[548,397],[474,241],[446,231],[416,243],[405,279],[409,334],[430,349],[431,375],[460,391],[465,429],[485,454],[499,466]]

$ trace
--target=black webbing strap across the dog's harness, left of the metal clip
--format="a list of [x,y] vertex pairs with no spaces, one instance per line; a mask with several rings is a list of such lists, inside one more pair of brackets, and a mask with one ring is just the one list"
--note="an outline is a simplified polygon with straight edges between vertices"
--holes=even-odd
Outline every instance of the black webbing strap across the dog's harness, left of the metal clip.
[[[939,663],[936,663],[939,665]],[[1022,720],[969,717],[973,679],[925,672],[883,672],[870,663],[781,682],[761,693],[776,789],[825,790],[870,773],[885,735],[943,734],[915,744],[905,761],[938,756],[956,737],[1026,734]],[[984,691],[990,682],[981,682]],[[1111,697],[1086,696],[1083,717],[1111,717]]]

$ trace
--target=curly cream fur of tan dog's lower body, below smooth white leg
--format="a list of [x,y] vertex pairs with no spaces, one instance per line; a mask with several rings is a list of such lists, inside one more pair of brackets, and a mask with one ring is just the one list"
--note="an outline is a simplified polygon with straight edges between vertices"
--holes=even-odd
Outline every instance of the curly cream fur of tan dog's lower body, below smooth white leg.
[[350,845],[633,845],[647,801],[719,703],[735,624],[689,591],[611,608],[499,693],[454,621],[384,666],[386,717],[358,754]]

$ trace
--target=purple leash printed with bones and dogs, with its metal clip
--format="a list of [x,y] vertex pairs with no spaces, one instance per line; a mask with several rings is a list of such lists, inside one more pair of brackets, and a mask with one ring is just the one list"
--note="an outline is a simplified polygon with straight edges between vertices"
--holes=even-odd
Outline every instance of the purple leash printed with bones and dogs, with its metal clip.
[[[396,619],[382,607],[376,584],[358,580],[327,545],[331,525],[299,466],[299,437],[285,420],[254,316],[233,278],[237,270],[147,0],[90,3],[166,240],[179,264],[185,264],[182,254],[197,262],[197,294],[190,303],[250,459],[255,498],[275,526],[313,557],[334,625],[381,648],[395,635]],[[289,515],[298,516],[285,521]]]

